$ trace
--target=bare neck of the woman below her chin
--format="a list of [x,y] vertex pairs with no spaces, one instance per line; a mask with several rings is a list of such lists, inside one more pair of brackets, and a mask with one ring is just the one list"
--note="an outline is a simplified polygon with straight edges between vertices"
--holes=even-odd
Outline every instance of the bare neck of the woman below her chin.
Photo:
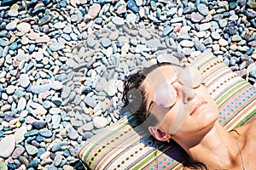
[[[236,139],[218,122],[206,133],[193,133],[187,138],[185,140],[177,138],[177,143],[183,147],[194,161],[202,162],[207,167],[214,167],[215,169],[230,169],[231,167],[240,166],[241,162],[237,159],[239,150],[236,145]],[[191,141],[191,139],[195,140]],[[189,141],[189,143],[183,141]]]

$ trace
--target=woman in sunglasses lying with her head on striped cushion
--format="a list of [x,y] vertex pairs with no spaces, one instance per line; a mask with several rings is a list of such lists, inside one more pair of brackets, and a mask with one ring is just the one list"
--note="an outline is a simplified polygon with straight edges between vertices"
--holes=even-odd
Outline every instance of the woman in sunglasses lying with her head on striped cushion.
[[172,139],[183,148],[184,169],[256,167],[255,121],[226,132],[195,68],[153,65],[126,79],[123,99],[138,123],[147,122],[155,139]]

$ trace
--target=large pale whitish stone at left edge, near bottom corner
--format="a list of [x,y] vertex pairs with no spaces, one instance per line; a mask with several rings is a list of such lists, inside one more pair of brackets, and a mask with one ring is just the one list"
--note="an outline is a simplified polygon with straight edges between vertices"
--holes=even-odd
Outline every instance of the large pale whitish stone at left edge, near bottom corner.
[[[8,146],[8,147],[7,147]],[[0,141],[0,157],[8,158],[15,150],[15,135],[9,134]]]

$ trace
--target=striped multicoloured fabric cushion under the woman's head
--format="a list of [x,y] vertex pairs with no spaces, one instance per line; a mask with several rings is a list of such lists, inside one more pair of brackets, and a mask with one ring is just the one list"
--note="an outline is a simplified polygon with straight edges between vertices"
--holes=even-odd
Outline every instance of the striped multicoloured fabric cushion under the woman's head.
[[[212,53],[203,53],[192,66],[198,67],[203,82],[218,105],[220,122],[228,131],[249,121],[256,113],[256,88],[236,75]],[[125,116],[88,139],[78,156],[89,169],[181,169],[180,150],[148,136]]]

